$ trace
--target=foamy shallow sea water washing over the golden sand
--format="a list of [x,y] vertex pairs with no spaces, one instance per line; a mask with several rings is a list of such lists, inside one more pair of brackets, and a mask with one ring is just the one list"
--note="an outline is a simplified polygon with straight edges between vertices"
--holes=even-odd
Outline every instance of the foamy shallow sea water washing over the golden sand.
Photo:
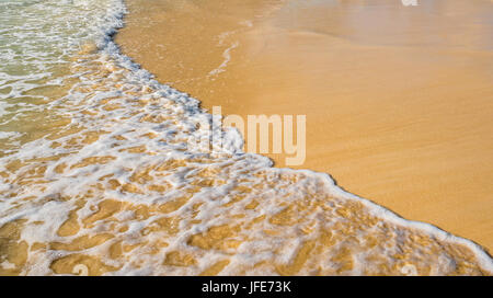
[[121,55],[122,0],[0,1],[0,274],[491,275],[477,244],[272,168]]

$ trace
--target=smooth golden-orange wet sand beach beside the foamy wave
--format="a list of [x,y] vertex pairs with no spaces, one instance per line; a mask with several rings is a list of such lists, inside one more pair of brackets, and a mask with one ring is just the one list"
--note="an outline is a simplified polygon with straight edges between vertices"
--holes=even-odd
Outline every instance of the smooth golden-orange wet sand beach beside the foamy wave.
[[491,251],[493,4],[365,3],[129,0],[116,42],[207,108],[307,115],[298,168]]

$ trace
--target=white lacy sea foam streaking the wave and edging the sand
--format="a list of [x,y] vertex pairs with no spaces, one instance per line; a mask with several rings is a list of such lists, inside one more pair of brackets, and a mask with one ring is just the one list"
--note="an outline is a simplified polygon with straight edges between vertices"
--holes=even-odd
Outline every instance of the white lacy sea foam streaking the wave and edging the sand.
[[[71,5],[74,5],[72,8]],[[117,28],[123,26],[123,16],[126,12],[125,5],[122,0],[107,0],[95,1],[84,0],[70,2],[65,1],[61,7],[56,1],[48,1],[38,4],[34,4],[37,9],[43,9],[48,5],[55,5],[54,11],[56,13],[67,13],[71,9],[77,9],[81,13],[73,16],[68,14],[68,22],[74,26],[69,33],[70,42],[64,42],[60,48],[64,53],[73,53],[79,47],[80,41],[92,39],[95,41],[100,48],[100,55],[98,55],[98,61],[100,61],[107,70],[111,70],[108,78],[114,76],[115,81],[119,83],[119,88],[115,85],[107,85],[107,91],[92,91],[81,92],[77,88],[73,88],[67,96],[57,101],[50,102],[50,108],[57,108],[57,113],[67,113],[72,119],[71,125],[80,125],[85,127],[84,131],[98,131],[105,130],[107,134],[100,136],[100,139],[90,145],[84,145],[77,150],[55,147],[53,142],[47,139],[38,139],[24,145],[19,152],[0,159],[0,171],[5,171],[5,165],[13,160],[30,160],[34,158],[53,157],[56,154],[68,153],[68,156],[60,158],[58,161],[47,163],[47,170],[44,174],[44,179],[47,181],[43,184],[33,184],[30,186],[16,185],[15,183],[7,183],[2,179],[0,184],[0,192],[15,192],[18,200],[30,196],[36,197],[32,204],[16,205],[18,200],[4,200],[0,204],[0,225],[10,222],[19,218],[28,218],[30,222],[43,222],[39,225],[27,225],[22,231],[22,239],[32,244],[35,242],[51,242],[61,241],[67,242],[73,240],[74,237],[64,239],[55,233],[61,222],[68,218],[70,210],[74,208],[72,200],[61,199],[60,196],[78,197],[81,194],[88,193],[88,191],[98,191],[93,185],[100,183],[100,177],[106,175],[113,175],[113,179],[118,180],[121,183],[130,182],[130,173],[126,169],[137,170],[147,164],[159,164],[161,162],[170,160],[194,158],[208,158],[210,163],[194,164],[187,167],[177,168],[174,171],[170,171],[165,176],[165,182],[171,185],[171,190],[165,194],[153,193],[124,193],[117,190],[105,188],[101,192],[102,197],[112,197],[114,199],[126,202],[129,204],[144,204],[148,206],[169,202],[175,197],[182,195],[182,190],[188,187],[193,183],[197,182],[195,175],[200,170],[206,168],[221,168],[227,169],[227,173],[219,173],[220,179],[225,181],[221,185],[215,187],[203,187],[197,195],[191,198],[190,204],[177,209],[171,215],[181,216],[190,213],[192,204],[202,203],[204,208],[196,215],[196,219],[203,220],[202,224],[192,225],[187,228],[187,221],[180,222],[180,232],[176,236],[168,236],[169,248],[165,251],[184,251],[187,248],[186,239],[197,232],[205,232],[210,227],[231,224],[232,218],[227,215],[232,214],[245,214],[246,217],[259,217],[262,215],[272,216],[280,211],[284,207],[279,202],[289,203],[307,196],[307,192],[317,190],[319,193],[329,194],[332,197],[337,198],[341,202],[356,200],[362,202],[368,210],[381,218],[382,221],[393,224],[397,227],[404,227],[410,229],[416,229],[426,234],[435,238],[439,241],[448,243],[459,243],[468,247],[474,254],[478,262],[486,271],[493,272],[492,259],[475,243],[451,236],[438,228],[423,222],[409,221],[400,218],[395,214],[378,206],[367,199],[360,198],[353,194],[349,194],[335,185],[330,175],[324,173],[317,173],[309,170],[290,170],[290,169],[275,169],[271,168],[272,162],[259,154],[248,154],[241,150],[243,140],[237,130],[230,129],[226,131],[214,131],[214,134],[221,134],[225,144],[227,146],[219,148],[220,150],[216,156],[210,157],[203,153],[199,149],[187,145],[187,142],[181,142],[181,139],[190,139],[191,137],[205,136],[207,131],[197,128],[197,124],[205,124],[211,121],[211,115],[206,111],[199,108],[198,101],[181,93],[170,87],[160,84],[148,71],[141,69],[138,65],[134,64],[128,57],[123,56],[118,47],[112,39],[112,35]],[[66,5],[66,7],[64,7]],[[37,11],[39,12],[39,11]],[[73,18],[73,19],[70,19]],[[85,20],[85,18],[89,18]],[[81,25],[81,24],[82,25]],[[41,33],[43,38],[47,38],[50,43],[57,42],[58,37],[54,37],[50,34]],[[64,35],[61,35],[61,39]],[[238,45],[237,45],[238,46]],[[232,44],[225,51],[225,62],[218,68],[220,71],[228,64],[230,56],[229,50],[236,46]],[[9,54],[11,55],[11,54]],[[93,55],[95,56],[95,55]],[[93,57],[90,56],[90,57]],[[91,64],[93,61],[87,61],[80,59],[73,62],[74,66],[81,66]],[[38,69],[43,69],[37,65]],[[102,78],[92,79],[91,73],[77,73],[81,83],[76,87],[91,87],[102,81]],[[0,76],[4,76],[0,72]],[[122,78],[117,78],[121,76]],[[0,77],[1,79],[2,77]],[[19,79],[19,78],[18,78]],[[25,78],[23,78],[24,80]],[[10,80],[8,77],[5,80]],[[18,85],[18,91],[28,87],[27,79],[21,81]],[[60,82],[59,79],[53,80]],[[131,92],[140,92],[141,90],[150,89],[150,92],[140,95],[133,95]],[[115,100],[121,103],[125,108],[106,111],[101,110],[101,102],[105,99],[118,98]],[[148,104],[144,107],[135,106],[136,101],[148,100],[154,101],[153,104]],[[88,117],[85,110],[99,110],[102,117]],[[135,113],[134,113],[135,112]],[[142,115],[151,116],[167,116],[170,119],[159,123],[140,122]],[[81,131],[82,133],[82,131]],[[82,136],[78,133],[78,136]],[[159,138],[148,139],[142,137],[147,133],[153,133],[159,135]],[[115,142],[115,136],[124,136],[127,141]],[[3,137],[13,137],[12,133],[0,134],[0,139]],[[73,136],[69,135],[57,139],[57,141],[65,144],[68,142]],[[156,152],[156,154],[139,154],[126,152],[124,149],[135,147],[137,145],[145,145],[147,151]],[[232,154],[232,156],[230,156]],[[105,164],[91,164],[88,167],[74,167],[78,162],[82,162],[87,158],[112,156],[115,160]],[[56,167],[62,163],[68,164],[67,170],[59,174],[56,171]],[[28,169],[27,169],[28,170]],[[21,170],[23,171],[23,170]],[[257,180],[253,173],[264,171],[266,177],[264,180]],[[296,175],[299,177],[298,182],[287,182],[279,176],[283,174]],[[154,176],[158,180],[158,176]],[[244,182],[241,182],[244,181]],[[277,183],[276,187],[267,187],[264,185],[262,193],[249,195],[248,199],[252,199],[254,196],[262,200],[263,208],[260,210],[245,213],[244,206],[232,206],[227,210],[222,210],[221,206],[232,200],[231,190],[234,185],[243,183],[245,187],[251,187],[256,183],[273,182]],[[242,184],[242,185],[243,185]],[[245,199],[246,200],[246,199]],[[93,214],[93,208],[101,202],[100,197],[93,197],[89,199],[89,203],[78,211],[80,218],[85,218]],[[335,204],[328,202],[328,204]],[[142,231],[152,226],[152,222],[160,218],[159,215],[153,215],[144,220],[130,220],[135,217],[135,213],[126,210],[124,213],[115,215],[119,220],[128,222],[128,231],[123,237],[129,242],[139,242],[141,238],[146,237],[146,241],[152,242],[160,240],[162,234],[147,234],[142,236]],[[317,214],[308,215],[307,219],[317,221]],[[330,219],[339,220],[339,219]],[[188,220],[190,221],[190,220]],[[333,222],[320,222],[317,225],[329,225]],[[78,233],[80,234],[93,234],[107,229],[106,224],[101,224],[93,228],[82,228]],[[283,263],[293,259],[298,248],[307,239],[299,236],[297,232],[299,227],[286,227],[282,232],[285,238],[268,238],[265,237],[262,230],[251,231],[249,237],[255,241],[251,241],[241,245],[231,259],[230,266],[226,270],[226,273],[234,274],[236,264],[255,264],[262,260],[277,257],[276,261]],[[337,232],[337,231],[334,231]],[[397,231],[399,233],[399,231]],[[83,251],[85,254],[104,255],[107,251],[107,247],[111,242],[104,243],[99,247],[90,248]],[[278,251],[283,252],[280,255],[274,255],[273,248],[278,248]],[[382,252],[386,250],[397,250],[395,248],[379,248]],[[55,260],[62,255],[67,255],[69,252],[48,250],[46,253],[36,252],[30,253],[30,264],[36,264],[35,266],[25,268],[24,274],[50,274],[49,264],[50,260]],[[122,267],[114,272],[114,274],[130,275],[130,274],[196,274],[197,270],[204,270],[210,265],[215,260],[220,260],[223,255],[218,251],[200,252],[203,257],[198,261],[197,267],[163,267],[156,264],[162,263],[162,254],[148,255],[145,253],[133,255],[133,261],[138,260],[144,264],[138,268],[131,265],[133,262],[121,264]],[[363,273],[365,263],[362,255],[355,256],[359,262],[354,270],[354,274]],[[450,271],[454,263],[448,256],[439,255],[439,262],[436,264],[436,274]],[[325,257],[324,260],[329,260]],[[437,259],[438,260],[438,259]],[[1,261],[1,260],[0,260]],[[106,259],[105,262],[111,264],[112,260]],[[328,262],[324,264],[331,267],[332,264]],[[432,264],[433,265],[433,264]],[[263,272],[263,274],[274,274],[273,272]]]

